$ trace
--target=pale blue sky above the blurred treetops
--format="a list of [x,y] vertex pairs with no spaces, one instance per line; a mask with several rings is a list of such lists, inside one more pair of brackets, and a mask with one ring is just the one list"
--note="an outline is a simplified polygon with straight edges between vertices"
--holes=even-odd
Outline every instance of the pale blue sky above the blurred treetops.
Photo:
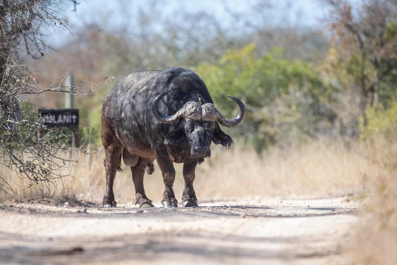
[[[101,24],[100,22],[104,20],[109,21],[108,29],[117,28],[126,21],[128,24],[129,20],[133,25],[139,9],[149,11],[153,5],[162,11],[163,18],[168,19],[173,19],[172,16],[178,10],[205,11],[213,14],[223,27],[233,23],[231,14],[242,14],[249,18],[254,6],[260,2],[272,6],[272,11],[266,13],[269,23],[281,26],[291,23],[299,24],[301,27],[321,27],[320,18],[326,12],[319,0],[78,0],[78,2],[76,10],[73,4],[62,6],[62,13],[67,17],[72,31],[74,27],[85,23]],[[56,31],[50,29],[46,35],[47,41],[55,45],[65,38],[72,37],[70,33],[60,29]]]

